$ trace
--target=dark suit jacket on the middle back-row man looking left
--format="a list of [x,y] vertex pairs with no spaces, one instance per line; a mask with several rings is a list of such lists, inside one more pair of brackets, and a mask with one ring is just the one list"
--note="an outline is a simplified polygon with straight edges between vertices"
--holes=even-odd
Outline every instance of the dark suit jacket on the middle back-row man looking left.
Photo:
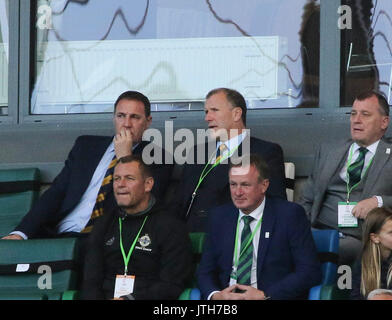
[[[267,195],[277,196],[286,199],[286,183],[284,175],[283,151],[275,143],[246,136],[232,158],[236,155],[241,156],[246,150],[242,150],[245,143],[250,143],[250,152],[259,154],[264,158],[270,168],[270,186]],[[250,139],[250,140],[249,140]],[[186,164],[183,168],[182,179],[174,197],[172,211],[178,216],[187,219],[188,229],[191,232],[204,232],[207,223],[207,211],[218,205],[231,202],[229,188],[229,163],[228,161],[215,167],[201,183],[197,196],[193,201],[191,210],[186,216],[192,193],[199,181],[201,172],[205,164],[211,158],[211,153],[215,153],[215,145],[210,148],[208,145],[197,145],[194,147],[194,163]],[[197,164],[197,150],[205,152],[203,164]],[[238,152],[238,153],[237,153]],[[232,159],[230,158],[230,159]]]

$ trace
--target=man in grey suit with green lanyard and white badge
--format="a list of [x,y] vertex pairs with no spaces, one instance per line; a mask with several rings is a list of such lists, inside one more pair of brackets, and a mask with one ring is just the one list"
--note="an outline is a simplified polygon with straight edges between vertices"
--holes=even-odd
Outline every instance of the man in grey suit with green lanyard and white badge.
[[313,228],[339,230],[339,264],[361,249],[362,224],[376,207],[392,208],[392,143],[385,97],[369,91],[354,101],[351,139],[322,145],[300,198]]

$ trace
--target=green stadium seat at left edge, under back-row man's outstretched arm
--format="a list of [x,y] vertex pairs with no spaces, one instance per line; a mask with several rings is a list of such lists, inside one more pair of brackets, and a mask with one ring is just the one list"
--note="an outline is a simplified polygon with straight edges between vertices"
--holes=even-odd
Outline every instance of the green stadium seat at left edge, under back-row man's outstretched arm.
[[0,170],[0,237],[7,235],[39,195],[37,168]]

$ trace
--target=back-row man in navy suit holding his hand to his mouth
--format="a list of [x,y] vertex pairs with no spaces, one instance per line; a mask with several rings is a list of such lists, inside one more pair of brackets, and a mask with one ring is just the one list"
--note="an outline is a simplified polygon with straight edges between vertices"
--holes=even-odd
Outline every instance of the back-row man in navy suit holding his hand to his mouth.
[[[151,124],[150,101],[136,91],[122,93],[114,104],[115,136],[81,136],[50,188],[5,239],[21,240],[58,235],[79,235],[92,217],[97,195],[109,164],[130,154],[142,154],[148,142],[143,132]],[[157,149],[153,149],[154,151]],[[156,164],[153,193],[162,197],[171,175],[170,165]],[[110,183],[105,206],[114,202]]]

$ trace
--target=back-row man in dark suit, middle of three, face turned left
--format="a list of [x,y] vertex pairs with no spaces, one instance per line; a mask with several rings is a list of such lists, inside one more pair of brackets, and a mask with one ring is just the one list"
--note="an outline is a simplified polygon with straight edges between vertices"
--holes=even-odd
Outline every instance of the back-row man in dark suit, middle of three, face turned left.
[[[183,167],[172,206],[174,213],[186,219],[190,232],[204,232],[208,210],[230,201],[228,163],[235,156],[261,155],[271,171],[267,195],[286,199],[282,148],[250,136],[250,130],[246,129],[244,97],[232,89],[214,89],[206,96],[204,110],[210,139],[208,143],[194,147],[191,153],[194,157],[191,156]],[[224,147],[222,152],[221,146]],[[222,161],[213,166],[218,152],[223,156]]]

